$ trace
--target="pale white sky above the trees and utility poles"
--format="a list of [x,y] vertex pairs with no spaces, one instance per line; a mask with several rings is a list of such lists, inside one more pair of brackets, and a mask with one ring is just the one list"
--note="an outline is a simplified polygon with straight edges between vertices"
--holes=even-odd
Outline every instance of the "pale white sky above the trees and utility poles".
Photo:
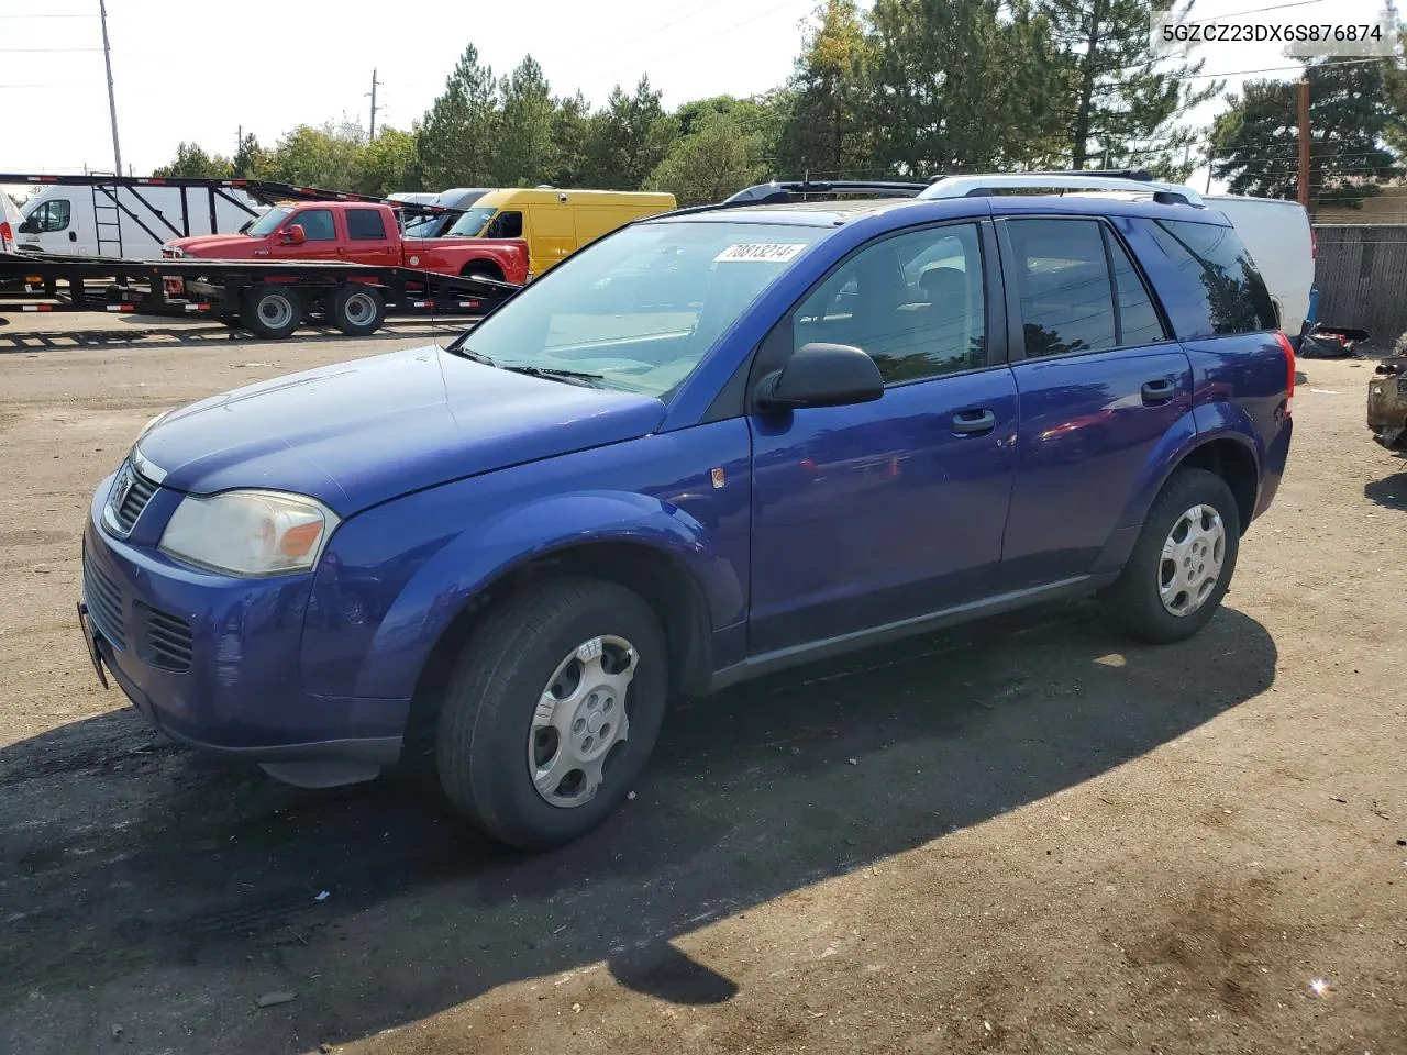
[[[107,0],[122,167],[170,160],[180,141],[229,155],[239,128],[272,146],[297,124],[409,127],[466,44],[507,73],[530,52],[553,91],[594,104],[644,73],[667,107],[785,80],[816,0]],[[868,6],[862,3],[861,6]],[[359,13],[364,10],[366,14]],[[1382,0],[1197,0],[1193,18],[1372,21]],[[0,172],[114,167],[98,0],[0,0]],[[1242,14],[1245,13],[1245,14]],[[1293,66],[1266,44],[1210,44],[1206,72]],[[1289,72],[1255,76],[1289,77]],[[1241,76],[1228,77],[1235,91]],[[1216,100],[1192,115],[1209,122]],[[778,173],[788,176],[792,173]],[[1193,176],[1202,186],[1203,176]]]

